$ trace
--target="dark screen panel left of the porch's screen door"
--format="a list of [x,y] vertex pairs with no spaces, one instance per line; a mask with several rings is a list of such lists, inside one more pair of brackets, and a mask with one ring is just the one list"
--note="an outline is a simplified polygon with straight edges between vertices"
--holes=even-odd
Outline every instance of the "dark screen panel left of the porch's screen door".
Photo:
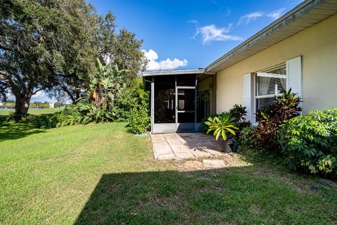
[[154,123],[176,122],[176,77],[154,77]]

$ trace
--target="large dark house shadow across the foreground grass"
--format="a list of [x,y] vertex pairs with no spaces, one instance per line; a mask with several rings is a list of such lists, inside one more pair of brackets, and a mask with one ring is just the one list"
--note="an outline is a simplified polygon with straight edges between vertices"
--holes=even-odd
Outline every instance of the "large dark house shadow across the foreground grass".
[[[74,224],[292,224],[308,217],[317,223],[333,220],[336,207],[325,207],[313,217],[320,206],[310,206],[317,200],[307,195],[303,198],[277,179],[253,176],[257,170],[250,165],[194,172],[104,174]],[[310,209],[303,212],[298,205]]]

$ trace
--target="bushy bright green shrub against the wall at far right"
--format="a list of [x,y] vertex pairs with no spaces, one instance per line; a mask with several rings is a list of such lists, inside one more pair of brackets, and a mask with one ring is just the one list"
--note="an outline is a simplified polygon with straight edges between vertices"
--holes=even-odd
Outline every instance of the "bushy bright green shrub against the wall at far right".
[[279,132],[284,162],[312,174],[337,173],[337,109],[295,117]]

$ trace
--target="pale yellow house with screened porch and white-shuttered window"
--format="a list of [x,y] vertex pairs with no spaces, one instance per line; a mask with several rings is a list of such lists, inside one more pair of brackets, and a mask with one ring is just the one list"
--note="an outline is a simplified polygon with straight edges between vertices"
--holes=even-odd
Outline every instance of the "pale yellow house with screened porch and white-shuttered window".
[[197,131],[242,104],[247,117],[290,89],[303,113],[337,107],[337,0],[307,0],[202,70],[145,72],[152,132]]

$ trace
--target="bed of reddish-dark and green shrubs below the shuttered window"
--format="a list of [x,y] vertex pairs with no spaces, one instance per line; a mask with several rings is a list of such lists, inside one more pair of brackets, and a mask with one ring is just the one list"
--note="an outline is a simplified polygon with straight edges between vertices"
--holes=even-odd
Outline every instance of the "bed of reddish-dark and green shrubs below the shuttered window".
[[300,98],[284,91],[259,110],[257,127],[242,129],[241,148],[258,150],[290,169],[337,177],[337,109],[301,116]]

